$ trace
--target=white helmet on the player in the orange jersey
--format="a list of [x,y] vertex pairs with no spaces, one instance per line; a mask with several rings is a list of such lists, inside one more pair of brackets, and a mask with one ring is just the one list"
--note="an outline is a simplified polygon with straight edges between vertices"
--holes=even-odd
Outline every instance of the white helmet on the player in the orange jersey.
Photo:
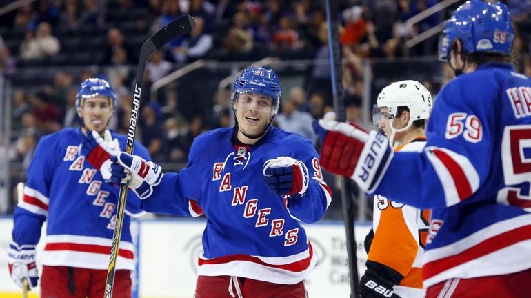
[[[410,121],[404,128],[394,128],[392,119],[397,116],[399,107],[407,107],[410,112]],[[392,130],[390,143],[395,132],[403,132],[412,126],[414,121],[428,119],[432,109],[432,95],[421,83],[413,80],[397,81],[383,88],[378,95],[377,105],[373,109],[374,124],[381,119],[380,108],[388,108],[389,125]]]

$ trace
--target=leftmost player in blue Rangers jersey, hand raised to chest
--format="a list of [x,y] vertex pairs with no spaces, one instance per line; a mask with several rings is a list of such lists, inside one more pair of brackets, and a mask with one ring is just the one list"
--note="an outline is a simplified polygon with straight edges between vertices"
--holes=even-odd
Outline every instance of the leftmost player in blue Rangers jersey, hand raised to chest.
[[[110,183],[109,157],[126,147],[126,136],[107,130],[116,95],[103,79],[79,86],[76,108],[81,128],[64,128],[41,138],[28,168],[23,198],[14,211],[8,264],[14,282],[37,286],[35,245],[47,222],[41,296],[103,297],[116,212],[118,188]],[[137,155],[149,159],[137,143]],[[128,195],[113,297],[131,297],[134,270],[130,216],[143,214],[137,195]]]

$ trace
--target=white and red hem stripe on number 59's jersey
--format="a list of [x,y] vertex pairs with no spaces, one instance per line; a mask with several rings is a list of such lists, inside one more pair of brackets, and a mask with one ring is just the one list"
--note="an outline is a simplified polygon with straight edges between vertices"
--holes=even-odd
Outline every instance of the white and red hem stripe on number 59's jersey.
[[[503,266],[500,266],[502,260]],[[433,286],[452,277],[505,275],[530,266],[531,214],[525,214],[498,221],[446,246],[427,250],[424,286]]]

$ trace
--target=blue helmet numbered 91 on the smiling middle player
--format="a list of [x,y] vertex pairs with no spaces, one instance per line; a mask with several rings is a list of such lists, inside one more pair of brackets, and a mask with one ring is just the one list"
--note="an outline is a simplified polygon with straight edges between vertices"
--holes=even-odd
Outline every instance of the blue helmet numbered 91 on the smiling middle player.
[[281,86],[279,76],[274,70],[248,66],[234,81],[232,90],[233,105],[241,93],[257,93],[272,98],[274,114],[279,112]]

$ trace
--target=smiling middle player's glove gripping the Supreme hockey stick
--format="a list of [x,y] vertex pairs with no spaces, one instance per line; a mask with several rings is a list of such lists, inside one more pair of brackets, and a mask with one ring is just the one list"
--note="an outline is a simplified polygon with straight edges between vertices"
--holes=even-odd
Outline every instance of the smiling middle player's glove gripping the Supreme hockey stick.
[[120,152],[110,158],[112,161],[110,181],[127,184],[140,199],[146,199],[153,192],[153,186],[159,185],[163,173],[161,166],[145,161],[137,155]]

